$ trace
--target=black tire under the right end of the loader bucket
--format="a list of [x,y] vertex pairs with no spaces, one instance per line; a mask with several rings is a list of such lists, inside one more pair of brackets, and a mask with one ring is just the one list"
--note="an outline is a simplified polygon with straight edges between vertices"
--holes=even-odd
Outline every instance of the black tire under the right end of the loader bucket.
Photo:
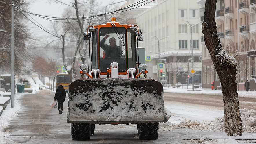
[[141,140],[156,140],[158,139],[158,123],[139,123],[138,135]]

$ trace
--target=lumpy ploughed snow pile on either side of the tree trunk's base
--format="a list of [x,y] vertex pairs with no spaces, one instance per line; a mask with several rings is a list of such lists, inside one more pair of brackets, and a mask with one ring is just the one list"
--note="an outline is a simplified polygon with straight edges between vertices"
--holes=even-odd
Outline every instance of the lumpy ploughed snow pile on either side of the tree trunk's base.
[[[256,110],[248,110],[247,108],[244,108],[240,109],[240,112],[243,132],[256,132]],[[224,131],[224,122],[224,117],[218,117],[211,122],[186,120],[181,122],[178,126],[189,127],[195,130]]]

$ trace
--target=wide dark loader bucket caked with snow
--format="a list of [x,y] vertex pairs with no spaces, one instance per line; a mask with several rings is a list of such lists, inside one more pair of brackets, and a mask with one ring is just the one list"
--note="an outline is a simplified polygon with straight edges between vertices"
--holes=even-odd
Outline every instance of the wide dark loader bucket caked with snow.
[[167,122],[163,86],[153,79],[87,79],[69,85],[67,122]]

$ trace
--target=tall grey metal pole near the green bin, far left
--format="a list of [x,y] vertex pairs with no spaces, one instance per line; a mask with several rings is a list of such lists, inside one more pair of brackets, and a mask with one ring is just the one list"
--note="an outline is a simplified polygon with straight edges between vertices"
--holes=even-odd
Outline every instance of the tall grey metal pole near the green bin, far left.
[[11,107],[14,108],[15,80],[14,80],[14,3],[11,5]]

